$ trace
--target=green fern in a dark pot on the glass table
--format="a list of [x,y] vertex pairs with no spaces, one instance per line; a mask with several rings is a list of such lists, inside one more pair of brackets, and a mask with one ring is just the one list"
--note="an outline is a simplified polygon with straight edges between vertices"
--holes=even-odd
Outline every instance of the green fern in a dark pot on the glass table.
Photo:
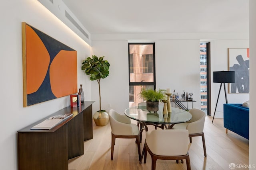
[[146,107],[148,111],[158,111],[159,100],[166,100],[166,90],[152,90],[141,88],[138,96],[146,100]]

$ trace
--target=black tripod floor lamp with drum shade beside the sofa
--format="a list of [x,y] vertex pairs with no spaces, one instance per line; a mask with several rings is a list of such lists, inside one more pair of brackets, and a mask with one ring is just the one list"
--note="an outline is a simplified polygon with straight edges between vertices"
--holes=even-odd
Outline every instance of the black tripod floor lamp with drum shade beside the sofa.
[[[214,83],[220,83],[220,90],[221,90],[221,86],[222,86],[222,83],[223,83],[226,103],[228,103],[225,83],[234,83],[235,82],[235,71],[214,71],[214,72],[212,72],[212,77],[213,77],[213,82]],[[212,118],[212,122],[213,122],[213,119],[214,119],[214,116],[215,116],[218,100],[219,100],[219,97],[220,97],[220,90],[219,90],[219,94],[218,94],[217,103],[216,103],[216,107],[215,107],[215,110],[214,110],[214,115],[213,115],[213,118]]]

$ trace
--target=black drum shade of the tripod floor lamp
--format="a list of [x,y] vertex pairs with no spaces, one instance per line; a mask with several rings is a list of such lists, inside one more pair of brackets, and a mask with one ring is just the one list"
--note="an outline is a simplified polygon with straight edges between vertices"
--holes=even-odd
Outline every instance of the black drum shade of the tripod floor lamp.
[[214,71],[212,72],[214,83],[234,83],[235,71]]

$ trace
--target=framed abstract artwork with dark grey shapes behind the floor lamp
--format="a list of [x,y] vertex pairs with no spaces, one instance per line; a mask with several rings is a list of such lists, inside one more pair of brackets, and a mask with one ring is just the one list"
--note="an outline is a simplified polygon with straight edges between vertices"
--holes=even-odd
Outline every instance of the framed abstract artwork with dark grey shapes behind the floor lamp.
[[235,71],[235,83],[229,93],[249,93],[249,48],[228,48],[228,70]]

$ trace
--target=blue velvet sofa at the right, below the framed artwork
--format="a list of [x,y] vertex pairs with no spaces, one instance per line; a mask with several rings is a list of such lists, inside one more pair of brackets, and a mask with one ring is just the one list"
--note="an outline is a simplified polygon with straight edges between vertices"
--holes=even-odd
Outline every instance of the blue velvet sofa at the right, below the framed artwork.
[[249,108],[242,104],[224,104],[224,127],[249,139]]

